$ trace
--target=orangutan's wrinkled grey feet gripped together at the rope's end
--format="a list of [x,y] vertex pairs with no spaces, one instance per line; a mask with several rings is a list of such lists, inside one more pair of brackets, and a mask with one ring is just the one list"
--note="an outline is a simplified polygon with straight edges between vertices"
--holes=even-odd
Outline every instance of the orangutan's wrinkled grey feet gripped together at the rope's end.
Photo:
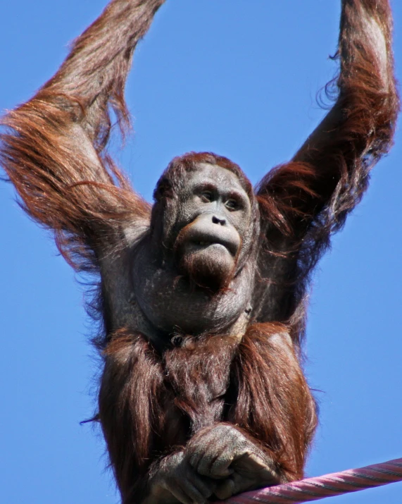
[[201,429],[178,453],[165,457],[151,477],[144,504],[203,504],[279,483],[272,460],[236,427]]

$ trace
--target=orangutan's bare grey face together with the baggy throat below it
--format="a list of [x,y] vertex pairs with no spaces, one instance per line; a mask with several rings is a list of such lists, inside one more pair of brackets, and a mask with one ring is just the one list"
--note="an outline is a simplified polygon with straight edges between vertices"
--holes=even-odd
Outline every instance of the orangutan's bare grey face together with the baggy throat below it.
[[234,173],[211,164],[187,172],[176,196],[174,218],[164,216],[169,245],[151,237],[134,260],[137,302],[164,333],[230,332],[253,288],[253,268],[238,268],[251,250],[249,197]]

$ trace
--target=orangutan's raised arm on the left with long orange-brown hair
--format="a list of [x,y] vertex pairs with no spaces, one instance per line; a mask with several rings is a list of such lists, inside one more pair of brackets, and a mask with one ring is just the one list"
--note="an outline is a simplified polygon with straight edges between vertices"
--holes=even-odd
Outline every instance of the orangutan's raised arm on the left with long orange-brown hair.
[[94,250],[149,217],[149,206],[103,149],[112,124],[108,104],[120,125],[128,123],[124,86],[132,51],[163,1],[112,1],[56,75],[1,120],[0,163],[25,211],[54,229],[77,269],[97,267]]

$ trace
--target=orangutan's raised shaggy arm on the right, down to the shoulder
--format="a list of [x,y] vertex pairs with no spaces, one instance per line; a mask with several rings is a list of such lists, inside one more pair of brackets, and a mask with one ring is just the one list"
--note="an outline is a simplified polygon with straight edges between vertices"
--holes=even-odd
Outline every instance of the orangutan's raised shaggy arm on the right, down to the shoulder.
[[319,233],[311,243],[325,247],[368,187],[370,168],[391,147],[399,111],[391,32],[389,0],[342,1],[335,104],[292,161],[268,173],[258,190],[266,220],[289,237],[288,249],[305,246],[315,219]]

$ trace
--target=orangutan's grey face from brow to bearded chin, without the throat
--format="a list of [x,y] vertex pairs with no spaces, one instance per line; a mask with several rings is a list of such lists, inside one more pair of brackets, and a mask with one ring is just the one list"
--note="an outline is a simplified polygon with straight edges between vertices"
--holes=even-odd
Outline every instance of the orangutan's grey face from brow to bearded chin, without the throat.
[[250,221],[249,197],[231,171],[201,164],[179,195],[175,257],[180,273],[219,290],[231,279]]

